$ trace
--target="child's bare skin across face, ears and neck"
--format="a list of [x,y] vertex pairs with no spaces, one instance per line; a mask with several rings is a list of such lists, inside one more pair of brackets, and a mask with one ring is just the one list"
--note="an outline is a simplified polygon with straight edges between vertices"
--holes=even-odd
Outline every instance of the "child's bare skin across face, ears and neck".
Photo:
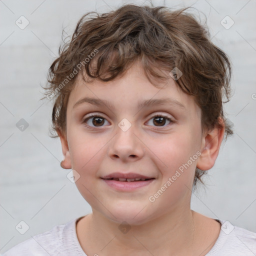
[[[59,132],[64,159],[63,168],[75,169],[75,182],[90,204],[92,213],[76,223],[79,243],[87,255],[205,255],[213,246],[220,224],[190,209],[195,167],[210,169],[218,155],[224,135],[221,128],[201,130],[200,108],[193,96],[182,92],[170,77],[161,86],[153,86],[139,61],[112,81],[87,83],[77,77],[66,112],[66,134]],[[84,102],[83,97],[107,99],[113,108]],[[145,106],[144,99],[175,99],[174,104]],[[89,113],[101,114],[101,126],[93,126]],[[154,114],[172,120],[157,125]],[[131,126],[123,131],[118,123],[126,118]],[[94,122],[95,124],[95,122]],[[89,126],[91,128],[89,128]],[[178,167],[196,151],[200,156],[167,189],[150,202]],[[135,191],[116,191],[100,177],[115,171],[136,172],[155,179]],[[129,231],[118,226],[128,223]]]

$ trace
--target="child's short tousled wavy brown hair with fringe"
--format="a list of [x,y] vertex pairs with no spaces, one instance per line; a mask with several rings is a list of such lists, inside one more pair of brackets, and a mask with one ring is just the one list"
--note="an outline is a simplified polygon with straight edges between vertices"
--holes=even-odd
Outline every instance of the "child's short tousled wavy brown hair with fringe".
[[[222,108],[222,97],[225,102],[229,100],[230,62],[210,41],[206,25],[185,12],[187,8],[171,10],[165,6],[126,4],[108,13],[92,11],[83,15],[71,40],[59,47],[59,57],[48,71],[49,85],[44,89],[45,97],[54,96],[53,130],[66,132],[66,106],[77,73],[86,74],[90,80],[109,81],[140,60],[150,81],[151,77],[170,77],[156,67],[181,70],[182,75],[175,82],[182,91],[194,96],[201,109],[202,128],[219,125],[218,117],[222,117],[225,137],[232,134]],[[84,75],[83,79],[89,82]],[[202,181],[202,174],[196,168],[194,184]]]

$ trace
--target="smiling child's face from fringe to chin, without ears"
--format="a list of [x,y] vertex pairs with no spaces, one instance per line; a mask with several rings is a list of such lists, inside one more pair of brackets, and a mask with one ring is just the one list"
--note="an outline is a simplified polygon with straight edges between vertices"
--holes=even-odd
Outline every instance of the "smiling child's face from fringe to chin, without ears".
[[[139,224],[190,208],[202,148],[200,108],[194,98],[171,77],[155,87],[139,62],[113,81],[85,84],[78,78],[68,99],[66,148],[61,142],[70,168],[80,175],[76,186],[92,211]],[[148,100],[151,104],[141,104]],[[150,179],[103,179],[113,172]]]

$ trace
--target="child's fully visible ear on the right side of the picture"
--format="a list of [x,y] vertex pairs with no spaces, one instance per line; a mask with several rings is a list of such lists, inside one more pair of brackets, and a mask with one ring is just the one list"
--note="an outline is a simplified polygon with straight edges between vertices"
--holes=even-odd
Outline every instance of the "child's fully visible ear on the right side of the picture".
[[218,118],[218,125],[207,131],[202,138],[201,155],[198,158],[196,167],[201,170],[210,169],[217,158],[218,151],[225,133],[225,124],[221,117]]

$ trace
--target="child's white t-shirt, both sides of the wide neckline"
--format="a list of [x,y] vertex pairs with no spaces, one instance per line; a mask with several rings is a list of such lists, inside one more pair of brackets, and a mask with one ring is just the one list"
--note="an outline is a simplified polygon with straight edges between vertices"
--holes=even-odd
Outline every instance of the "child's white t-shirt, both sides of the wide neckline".
[[[34,235],[2,256],[87,256],[76,235],[76,221],[79,218]],[[206,256],[256,255],[256,233],[233,226],[229,221],[218,221],[221,223],[219,236]]]

